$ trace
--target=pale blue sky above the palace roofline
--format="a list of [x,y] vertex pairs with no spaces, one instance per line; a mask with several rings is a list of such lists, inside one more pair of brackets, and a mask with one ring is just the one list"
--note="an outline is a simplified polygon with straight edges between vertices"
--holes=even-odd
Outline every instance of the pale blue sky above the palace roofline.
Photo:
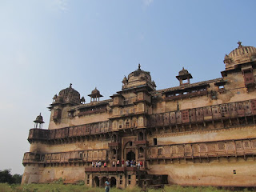
[[141,63],[158,86],[220,78],[223,58],[242,41],[256,46],[254,0],[0,1],[0,170],[22,174],[34,119],[73,83],[103,99]]

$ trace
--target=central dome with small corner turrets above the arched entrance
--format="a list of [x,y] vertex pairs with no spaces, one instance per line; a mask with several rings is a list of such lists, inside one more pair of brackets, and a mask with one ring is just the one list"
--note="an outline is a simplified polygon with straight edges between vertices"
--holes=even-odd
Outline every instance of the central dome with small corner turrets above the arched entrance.
[[148,85],[151,90],[155,90],[155,84],[151,80],[150,72],[142,70],[141,64],[138,64],[138,69],[134,70],[122,80],[122,90],[130,89],[136,86]]

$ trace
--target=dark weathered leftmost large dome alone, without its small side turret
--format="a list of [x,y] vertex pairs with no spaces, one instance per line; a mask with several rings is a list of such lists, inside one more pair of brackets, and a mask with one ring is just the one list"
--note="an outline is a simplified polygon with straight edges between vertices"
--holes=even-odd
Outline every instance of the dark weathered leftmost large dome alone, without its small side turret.
[[70,87],[61,90],[58,93],[58,98],[63,98],[64,102],[78,102],[80,103],[80,94],[78,93],[77,90],[74,90],[72,88],[72,83],[70,83]]

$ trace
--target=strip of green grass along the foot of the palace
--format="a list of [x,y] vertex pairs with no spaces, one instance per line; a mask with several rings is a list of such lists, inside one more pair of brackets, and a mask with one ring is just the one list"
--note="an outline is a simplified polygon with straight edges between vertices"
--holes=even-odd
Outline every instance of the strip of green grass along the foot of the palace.
[[[1,192],[104,192],[104,188],[88,187],[82,185],[63,185],[63,184],[29,184],[29,185],[9,185],[0,183]],[[111,188],[110,192],[141,192],[142,189],[134,187],[133,189],[119,190]],[[218,190],[212,186],[165,186],[164,189],[153,190],[148,189],[148,192],[230,192],[230,190]],[[248,192],[249,190],[240,190]]]

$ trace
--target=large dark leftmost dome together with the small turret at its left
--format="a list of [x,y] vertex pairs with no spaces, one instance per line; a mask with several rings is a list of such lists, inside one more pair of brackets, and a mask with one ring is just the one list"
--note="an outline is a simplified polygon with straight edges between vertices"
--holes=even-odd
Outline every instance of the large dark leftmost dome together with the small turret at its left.
[[54,102],[73,103],[74,105],[80,104],[80,94],[72,88],[72,83],[70,83],[70,87],[61,90],[58,95],[55,94],[53,99]]

